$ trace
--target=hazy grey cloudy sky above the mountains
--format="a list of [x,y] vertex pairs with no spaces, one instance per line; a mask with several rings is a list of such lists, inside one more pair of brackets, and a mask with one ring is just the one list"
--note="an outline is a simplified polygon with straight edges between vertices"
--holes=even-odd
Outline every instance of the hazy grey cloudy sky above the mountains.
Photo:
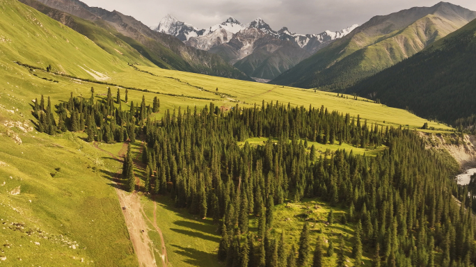
[[[363,24],[374,15],[387,15],[413,6],[434,6],[438,0],[81,0],[89,6],[118,10],[148,26],[157,26],[171,14],[199,29],[220,24],[232,16],[241,23],[257,17],[278,31],[287,26],[296,33],[338,31]],[[476,10],[475,0],[453,0]]]

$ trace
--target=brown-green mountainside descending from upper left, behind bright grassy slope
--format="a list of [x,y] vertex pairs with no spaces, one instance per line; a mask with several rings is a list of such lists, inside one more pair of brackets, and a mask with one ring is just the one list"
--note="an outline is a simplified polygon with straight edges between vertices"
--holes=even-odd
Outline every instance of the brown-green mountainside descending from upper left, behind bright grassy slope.
[[79,0],[19,1],[86,35],[110,53],[116,53],[116,49],[112,48],[114,44],[122,43],[122,46],[130,47],[127,54],[121,53],[131,63],[141,63],[145,58],[154,65],[170,70],[251,81],[249,76],[220,56],[189,47],[168,34],[152,31],[134,17],[116,10],[93,8]]

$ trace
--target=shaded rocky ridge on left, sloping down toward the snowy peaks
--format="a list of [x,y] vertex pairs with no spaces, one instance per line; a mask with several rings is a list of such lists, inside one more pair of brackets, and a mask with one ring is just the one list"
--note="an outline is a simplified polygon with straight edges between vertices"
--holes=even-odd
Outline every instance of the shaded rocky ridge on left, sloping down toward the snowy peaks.
[[[40,5],[34,0],[22,1],[33,8],[40,8]],[[113,35],[129,44],[130,47],[134,47],[143,57],[148,58],[159,67],[250,80],[246,74],[232,67],[219,56],[187,47],[177,38],[152,31],[134,17],[123,15],[116,10],[92,8],[78,0],[40,0],[39,2],[50,8],[93,22],[95,26],[106,31],[112,29],[113,31],[110,32]],[[43,8],[43,10],[45,9]],[[51,17],[57,13],[47,11],[46,14]],[[54,18],[60,19],[58,16]],[[70,16],[69,20],[74,20],[74,17]],[[65,21],[63,20],[63,22]],[[87,32],[91,33],[94,30],[87,30]]]

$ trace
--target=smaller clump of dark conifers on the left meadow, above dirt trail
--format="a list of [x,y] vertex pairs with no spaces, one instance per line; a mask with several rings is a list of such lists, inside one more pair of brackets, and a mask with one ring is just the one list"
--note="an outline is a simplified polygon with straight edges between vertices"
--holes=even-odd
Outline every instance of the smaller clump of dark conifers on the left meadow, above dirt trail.
[[157,97],[154,98],[153,107],[146,105],[145,97],[143,97],[141,104],[136,106],[134,102],[131,102],[129,111],[123,110],[119,89],[116,101],[113,100],[111,88],[108,89],[105,99],[95,101],[94,88],[91,88],[89,99],[74,97],[71,93],[68,102],[56,105],[58,118],[56,122],[49,97],[46,108],[44,102],[42,95],[40,102],[38,99],[35,100],[33,108],[33,115],[38,118],[38,131],[51,135],[65,131],[84,131],[88,134],[86,138],[88,142],[104,143],[126,140],[134,142],[141,127],[148,123],[149,115],[159,112],[160,107]]

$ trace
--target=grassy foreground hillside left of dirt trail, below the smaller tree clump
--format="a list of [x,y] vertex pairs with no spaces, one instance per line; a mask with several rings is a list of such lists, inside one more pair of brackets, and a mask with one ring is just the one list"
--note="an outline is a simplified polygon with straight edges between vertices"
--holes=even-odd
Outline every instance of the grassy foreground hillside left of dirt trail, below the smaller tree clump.
[[0,138],[0,256],[8,266],[136,266],[111,160],[73,134],[19,137],[22,145]]

